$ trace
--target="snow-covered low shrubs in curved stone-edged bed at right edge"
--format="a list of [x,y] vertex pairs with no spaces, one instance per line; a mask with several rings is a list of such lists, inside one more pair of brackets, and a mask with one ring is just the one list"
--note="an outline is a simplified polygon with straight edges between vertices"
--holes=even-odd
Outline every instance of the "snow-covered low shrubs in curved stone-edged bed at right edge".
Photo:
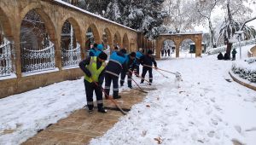
[[256,58],[250,58],[246,61],[236,61],[232,64],[231,70],[238,74],[240,78],[247,79],[256,83]]

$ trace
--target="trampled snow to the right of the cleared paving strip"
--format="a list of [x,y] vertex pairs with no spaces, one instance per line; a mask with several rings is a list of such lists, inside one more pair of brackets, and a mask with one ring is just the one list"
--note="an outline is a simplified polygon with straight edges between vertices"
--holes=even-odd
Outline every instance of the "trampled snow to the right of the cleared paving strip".
[[154,72],[159,90],[91,144],[146,145],[161,140],[162,144],[222,145],[232,144],[233,139],[256,144],[256,92],[225,80],[232,80],[231,64],[217,61],[216,55],[160,61],[160,68],[182,73],[181,87],[172,75],[166,79]]

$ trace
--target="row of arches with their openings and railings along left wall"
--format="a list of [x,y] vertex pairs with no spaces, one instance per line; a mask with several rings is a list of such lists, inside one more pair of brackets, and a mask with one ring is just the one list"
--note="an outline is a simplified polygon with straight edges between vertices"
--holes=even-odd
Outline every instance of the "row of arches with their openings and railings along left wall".
[[[0,76],[9,75],[13,71],[15,62],[9,61],[17,58],[20,58],[20,65],[16,65],[21,67],[20,73],[54,69],[60,66],[55,63],[58,59],[61,60],[61,67],[77,66],[86,55],[86,50],[94,43],[104,44],[109,50],[118,46],[131,51],[127,33],[122,37],[118,30],[110,31],[107,26],[99,29],[96,24],[90,23],[83,32],[81,30],[84,28],[81,28],[79,21],[67,16],[61,26],[56,26],[61,29],[56,29],[49,15],[42,9],[24,9],[20,21],[20,29],[12,30],[9,17],[0,8]],[[20,43],[14,43],[15,34],[12,31],[20,33]],[[81,45],[84,45],[83,49]],[[14,51],[20,52],[20,56],[12,54]]]

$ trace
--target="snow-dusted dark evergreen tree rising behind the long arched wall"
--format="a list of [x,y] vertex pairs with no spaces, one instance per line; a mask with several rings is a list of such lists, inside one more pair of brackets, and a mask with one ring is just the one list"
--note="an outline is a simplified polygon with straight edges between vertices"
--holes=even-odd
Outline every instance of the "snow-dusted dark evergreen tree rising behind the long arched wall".
[[166,18],[162,3],[164,0],[79,0],[78,6],[154,39]]

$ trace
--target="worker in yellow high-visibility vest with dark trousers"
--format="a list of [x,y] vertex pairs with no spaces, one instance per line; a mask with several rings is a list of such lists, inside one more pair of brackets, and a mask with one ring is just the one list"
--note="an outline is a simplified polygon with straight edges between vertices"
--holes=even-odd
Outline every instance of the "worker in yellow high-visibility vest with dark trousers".
[[89,113],[93,110],[93,91],[95,90],[98,112],[107,113],[103,107],[102,101],[102,83],[104,80],[104,72],[108,55],[102,52],[99,56],[90,56],[79,63],[79,67],[83,70],[84,86]]

